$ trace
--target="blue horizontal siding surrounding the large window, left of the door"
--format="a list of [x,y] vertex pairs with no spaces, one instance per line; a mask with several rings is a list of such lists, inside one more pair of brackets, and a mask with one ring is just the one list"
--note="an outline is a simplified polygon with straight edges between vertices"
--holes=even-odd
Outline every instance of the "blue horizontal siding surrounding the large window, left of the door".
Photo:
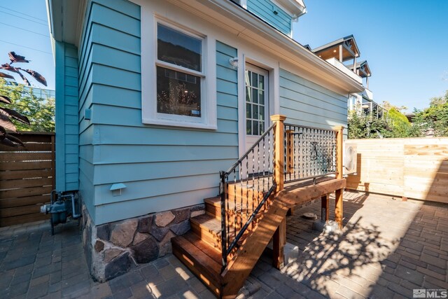
[[[238,158],[237,71],[228,64],[237,50],[216,44],[212,131],[142,123],[140,47],[139,6],[90,2],[79,54],[79,181],[97,225],[198,204],[218,193],[218,172]],[[113,196],[113,183],[125,183],[122,195]]]

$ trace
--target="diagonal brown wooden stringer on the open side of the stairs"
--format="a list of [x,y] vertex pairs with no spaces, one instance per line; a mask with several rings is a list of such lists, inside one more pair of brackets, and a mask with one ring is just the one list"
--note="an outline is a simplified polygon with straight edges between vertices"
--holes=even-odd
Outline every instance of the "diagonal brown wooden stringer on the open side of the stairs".
[[288,209],[287,204],[276,198],[265,211],[255,230],[247,237],[221,274],[222,298],[236,297],[281,221],[286,218]]

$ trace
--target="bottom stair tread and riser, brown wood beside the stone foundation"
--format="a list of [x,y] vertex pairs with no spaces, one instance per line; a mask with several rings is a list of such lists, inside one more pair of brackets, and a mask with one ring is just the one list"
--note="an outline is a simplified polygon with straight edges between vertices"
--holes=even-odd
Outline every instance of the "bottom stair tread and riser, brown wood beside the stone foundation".
[[217,263],[207,253],[204,253],[197,244],[187,238],[177,236],[172,238],[173,254],[181,260],[202,282],[216,295],[221,290],[221,264]]

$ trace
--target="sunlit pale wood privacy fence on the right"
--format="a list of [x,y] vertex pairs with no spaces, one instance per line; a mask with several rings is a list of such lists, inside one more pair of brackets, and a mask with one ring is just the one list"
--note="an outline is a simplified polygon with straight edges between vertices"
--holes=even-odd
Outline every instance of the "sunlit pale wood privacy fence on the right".
[[350,139],[357,175],[347,188],[448,203],[448,138]]

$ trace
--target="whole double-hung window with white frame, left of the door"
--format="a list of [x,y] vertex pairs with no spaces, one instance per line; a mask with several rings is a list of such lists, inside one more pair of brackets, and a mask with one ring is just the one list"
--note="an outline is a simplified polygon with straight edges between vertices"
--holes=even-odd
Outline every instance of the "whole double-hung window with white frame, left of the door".
[[176,24],[144,8],[142,122],[216,130],[216,40],[195,22]]

